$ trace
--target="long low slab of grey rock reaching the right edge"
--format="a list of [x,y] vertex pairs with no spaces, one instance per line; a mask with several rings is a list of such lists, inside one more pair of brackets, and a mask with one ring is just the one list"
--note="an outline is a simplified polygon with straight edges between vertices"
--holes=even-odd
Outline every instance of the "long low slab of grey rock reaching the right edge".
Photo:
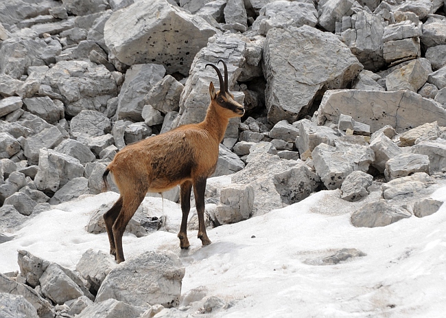
[[371,133],[386,125],[398,133],[436,120],[446,125],[446,110],[412,91],[327,91],[318,109],[318,124],[338,122],[341,113],[370,125]]

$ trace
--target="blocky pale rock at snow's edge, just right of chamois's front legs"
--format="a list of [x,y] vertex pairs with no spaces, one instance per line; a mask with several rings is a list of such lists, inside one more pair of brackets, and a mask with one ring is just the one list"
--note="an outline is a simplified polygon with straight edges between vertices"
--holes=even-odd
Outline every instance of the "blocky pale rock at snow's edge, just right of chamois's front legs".
[[253,212],[254,188],[251,185],[227,185],[220,192],[220,202],[214,214],[218,223],[230,224],[247,220]]

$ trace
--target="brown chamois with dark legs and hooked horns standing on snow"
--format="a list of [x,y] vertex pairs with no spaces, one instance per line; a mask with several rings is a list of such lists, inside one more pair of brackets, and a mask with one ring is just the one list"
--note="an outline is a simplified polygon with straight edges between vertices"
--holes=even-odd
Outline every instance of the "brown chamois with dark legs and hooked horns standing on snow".
[[220,91],[215,92],[209,84],[211,103],[206,117],[199,124],[187,124],[166,133],[130,144],[120,150],[108,164],[103,176],[107,190],[107,175],[112,172],[113,181],[119,188],[116,203],[104,214],[110,254],[118,263],[124,262],[122,235],[130,218],[143,201],[147,192],[162,193],[180,185],[181,220],[180,248],[188,249],[187,216],[191,207],[191,189],[196,198],[198,214],[198,238],[202,245],[211,244],[204,225],[204,190],[206,181],[215,171],[218,161],[218,146],[224,137],[228,120],[242,117],[244,106],[235,102],[228,91],[228,69],[223,60],[224,81],[220,69],[213,67],[220,80]]

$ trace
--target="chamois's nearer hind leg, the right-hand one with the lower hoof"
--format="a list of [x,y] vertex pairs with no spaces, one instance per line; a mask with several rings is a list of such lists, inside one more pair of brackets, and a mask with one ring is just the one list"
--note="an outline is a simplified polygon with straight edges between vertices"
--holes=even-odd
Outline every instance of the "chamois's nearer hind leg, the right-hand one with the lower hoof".
[[124,251],[122,250],[122,236],[126,230],[128,222],[137,212],[137,209],[141,202],[143,201],[145,192],[135,192],[133,194],[127,194],[123,196],[123,203],[121,213],[115,220],[113,224],[113,236],[115,236],[115,247],[116,247],[116,260],[118,263],[124,262]]

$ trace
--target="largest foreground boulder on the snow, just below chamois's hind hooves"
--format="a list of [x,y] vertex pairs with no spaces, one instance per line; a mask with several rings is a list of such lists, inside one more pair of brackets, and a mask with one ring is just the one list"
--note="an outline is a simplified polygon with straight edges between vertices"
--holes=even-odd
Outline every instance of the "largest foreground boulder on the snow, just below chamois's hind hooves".
[[178,306],[184,275],[185,268],[174,253],[148,251],[112,269],[95,302],[114,298],[132,306]]

